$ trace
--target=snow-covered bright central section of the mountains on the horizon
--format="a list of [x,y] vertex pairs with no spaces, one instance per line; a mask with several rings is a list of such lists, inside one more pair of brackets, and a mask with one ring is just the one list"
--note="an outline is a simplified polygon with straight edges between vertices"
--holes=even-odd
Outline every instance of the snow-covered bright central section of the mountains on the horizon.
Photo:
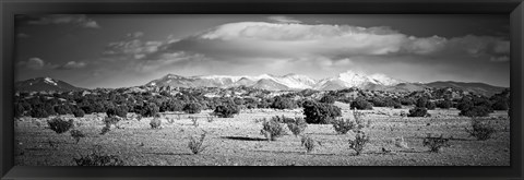
[[163,79],[154,80],[148,85],[180,86],[180,87],[235,87],[250,86],[265,89],[341,89],[349,87],[366,87],[369,85],[396,85],[401,81],[391,79],[384,74],[367,75],[358,71],[346,71],[336,76],[321,81],[307,75],[288,73],[285,75],[260,74],[260,75],[198,75],[180,76],[168,74]]

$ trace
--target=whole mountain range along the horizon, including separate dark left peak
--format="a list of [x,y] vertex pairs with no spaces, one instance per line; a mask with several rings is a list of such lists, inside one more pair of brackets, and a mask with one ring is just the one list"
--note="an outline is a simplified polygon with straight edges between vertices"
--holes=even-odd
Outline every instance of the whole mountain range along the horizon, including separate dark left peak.
[[[484,83],[464,83],[452,81],[438,81],[431,83],[409,83],[402,80],[389,77],[384,74],[357,73],[347,71],[336,76],[326,77],[322,80],[313,80],[307,75],[286,74],[286,75],[196,75],[182,76],[177,74],[167,74],[160,79],[153,80],[144,86],[148,87],[238,87],[247,86],[253,88],[261,88],[267,91],[301,91],[301,89],[317,89],[317,91],[336,91],[343,88],[357,87],[361,89],[371,91],[386,91],[386,92],[414,92],[422,91],[425,88],[444,88],[453,87],[466,92],[492,95],[499,93],[507,87],[492,86]],[[16,82],[17,91],[78,91],[85,89],[75,87],[66,82],[53,80],[50,77],[37,77],[22,82]]]

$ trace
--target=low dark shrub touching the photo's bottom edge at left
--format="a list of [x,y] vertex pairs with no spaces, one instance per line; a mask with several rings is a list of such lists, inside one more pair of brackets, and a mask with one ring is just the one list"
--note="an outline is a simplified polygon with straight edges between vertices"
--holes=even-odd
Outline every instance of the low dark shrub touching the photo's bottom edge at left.
[[76,166],[123,166],[124,163],[116,155],[100,155],[99,149],[95,149],[92,154],[73,158]]

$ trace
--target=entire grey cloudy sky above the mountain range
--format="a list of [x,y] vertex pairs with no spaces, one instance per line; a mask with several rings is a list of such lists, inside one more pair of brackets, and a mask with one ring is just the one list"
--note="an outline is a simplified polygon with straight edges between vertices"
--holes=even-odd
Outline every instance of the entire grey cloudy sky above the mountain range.
[[510,86],[507,15],[44,14],[16,16],[15,79],[129,87],[166,74],[381,73]]

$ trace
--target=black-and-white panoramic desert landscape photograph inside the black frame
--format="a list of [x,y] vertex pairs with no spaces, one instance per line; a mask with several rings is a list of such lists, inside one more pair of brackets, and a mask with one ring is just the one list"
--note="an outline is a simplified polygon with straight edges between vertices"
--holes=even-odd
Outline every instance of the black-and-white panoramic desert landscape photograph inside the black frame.
[[505,15],[15,16],[15,166],[510,166]]

